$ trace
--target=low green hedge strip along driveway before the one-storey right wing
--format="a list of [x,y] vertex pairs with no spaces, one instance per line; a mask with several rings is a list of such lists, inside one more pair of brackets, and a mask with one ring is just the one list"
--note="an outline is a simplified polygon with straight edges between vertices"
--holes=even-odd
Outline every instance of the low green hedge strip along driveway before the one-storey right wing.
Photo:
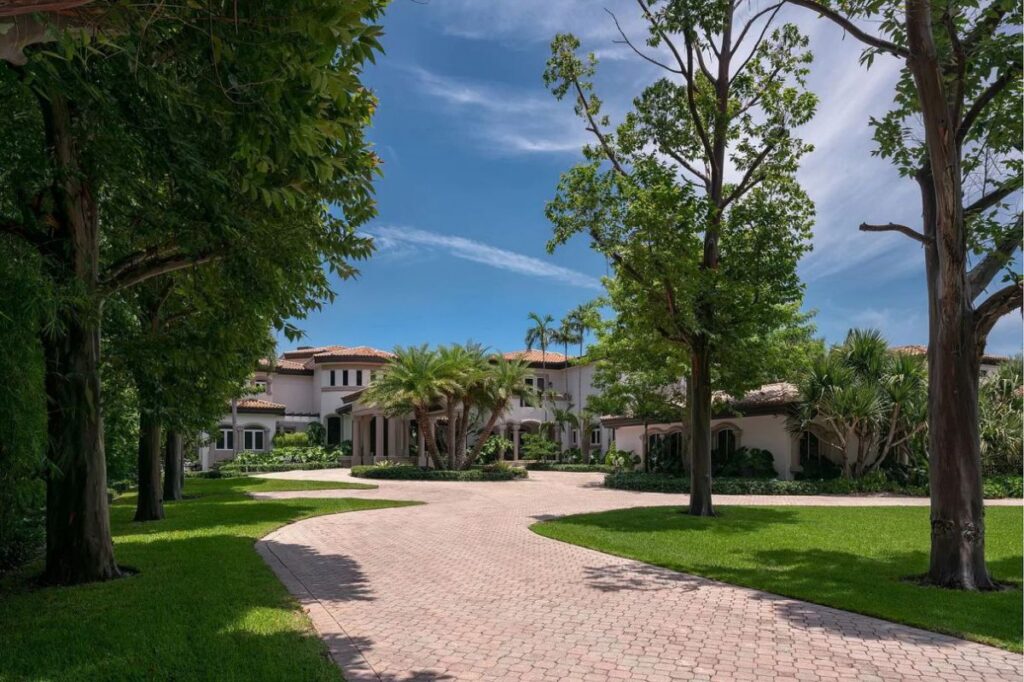
[[[689,478],[639,472],[610,473],[604,477],[605,487],[643,493],[689,493]],[[901,486],[893,481],[847,480],[775,480],[758,478],[714,478],[712,493],[717,495],[865,495],[894,493],[928,497],[928,488]],[[996,476],[985,480],[986,498],[1024,497],[1024,478]]]

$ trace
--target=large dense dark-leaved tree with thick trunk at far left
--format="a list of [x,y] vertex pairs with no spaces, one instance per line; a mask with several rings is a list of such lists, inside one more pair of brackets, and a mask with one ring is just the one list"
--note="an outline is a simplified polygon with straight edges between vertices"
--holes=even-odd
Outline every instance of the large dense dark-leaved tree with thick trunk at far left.
[[[269,221],[234,222],[239,201],[266,215],[337,204],[301,236],[330,267],[373,212],[362,129],[374,101],[358,70],[378,49],[381,3],[288,8],[118,6],[117,31],[83,40],[54,26],[60,49],[30,47],[24,66],[0,67],[0,98],[20,122],[5,134],[26,142],[0,187],[0,230],[37,249],[60,292],[43,335],[52,582],[119,573],[99,409],[104,299],[265,248]],[[166,207],[191,219],[165,220]]]

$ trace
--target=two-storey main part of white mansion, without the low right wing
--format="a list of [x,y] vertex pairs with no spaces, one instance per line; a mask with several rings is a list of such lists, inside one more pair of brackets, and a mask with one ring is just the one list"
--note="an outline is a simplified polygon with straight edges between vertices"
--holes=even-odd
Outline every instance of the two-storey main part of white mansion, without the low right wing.
[[[594,393],[594,370],[591,365],[573,364],[551,350],[520,350],[504,355],[527,363],[534,370],[529,381],[556,395],[553,406],[516,403],[502,416],[495,433],[512,441],[513,447],[505,458],[514,461],[519,459],[521,435],[540,431],[552,420],[553,408],[564,410],[587,403]],[[389,418],[360,400],[364,389],[391,357],[390,352],[369,346],[319,346],[299,347],[272,363],[261,363],[253,378],[261,391],[234,401],[231,411],[220,418],[216,433],[209,434],[208,444],[199,449],[203,468],[230,460],[242,451],[270,450],[274,434],[304,431],[311,422],[324,425],[329,445],[351,442],[351,464],[387,458],[425,465],[415,419],[411,415]],[[574,430],[557,431],[552,429],[551,435],[563,450],[580,446]],[[590,434],[591,452],[605,452],[610,435],[610,428],[595,428]]]

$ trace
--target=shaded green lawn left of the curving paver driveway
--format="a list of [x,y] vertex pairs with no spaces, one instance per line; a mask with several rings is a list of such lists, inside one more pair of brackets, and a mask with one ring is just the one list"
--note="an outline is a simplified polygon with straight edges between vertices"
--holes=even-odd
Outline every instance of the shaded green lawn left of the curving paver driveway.
[[253,543],[297,519],[409,503],[254,501],[250,491],[374,487],[261,478],[188,479],[163,521],[112,508],[118,562],[139,573],[36,587],[0,583],[0,680],[341,680],[324,643]]

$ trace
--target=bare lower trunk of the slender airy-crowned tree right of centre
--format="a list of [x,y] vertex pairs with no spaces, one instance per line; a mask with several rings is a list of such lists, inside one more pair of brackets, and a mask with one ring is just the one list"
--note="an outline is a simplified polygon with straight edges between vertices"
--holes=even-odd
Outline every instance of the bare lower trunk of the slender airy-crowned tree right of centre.
[[690,361],[690,514],[714,516],[711,499],[711,353],[694,341]]

